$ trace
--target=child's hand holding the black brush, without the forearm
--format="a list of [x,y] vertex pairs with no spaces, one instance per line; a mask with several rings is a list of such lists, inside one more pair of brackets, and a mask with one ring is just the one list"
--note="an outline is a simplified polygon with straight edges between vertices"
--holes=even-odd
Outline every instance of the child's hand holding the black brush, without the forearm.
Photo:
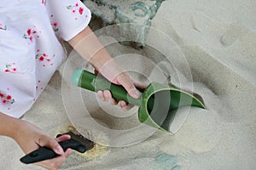
[[15,134],[14,139],[20,145],[20,148],[24,151],[24,153],[28,154],[33,150],[37,150],[39,147],[47,146],[54,150],[59,156],[46,161],[40,161],[35,164],[47,169],[60,168],[61,164],[66,161],[67,156],[71,154],[72,150],[67,149],[66,152],[64,152],[58,142],[70,139],[70,136],[62,135],[57,139],[51,139],[40,128],[32,125],[31,123],[25,121],[20,121],[20,123],[20,128]]

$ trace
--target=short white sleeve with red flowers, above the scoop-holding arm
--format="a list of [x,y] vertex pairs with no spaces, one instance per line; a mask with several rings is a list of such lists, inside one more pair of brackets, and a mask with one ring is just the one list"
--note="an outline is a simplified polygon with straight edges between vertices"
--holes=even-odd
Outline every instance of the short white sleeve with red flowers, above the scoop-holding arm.
[[90,9],[79,0],[49,0],[45,6],[56,37],[69,41],[90,23]]

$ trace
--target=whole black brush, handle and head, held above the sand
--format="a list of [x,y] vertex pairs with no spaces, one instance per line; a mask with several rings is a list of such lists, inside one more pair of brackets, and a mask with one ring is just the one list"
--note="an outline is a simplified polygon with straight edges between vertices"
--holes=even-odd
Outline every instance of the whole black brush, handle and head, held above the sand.
[[[86,150],[91,150],[94,147],[94,143],[89,139],[85,139],[81,135],[76,135],[72,132],[65,133],[71,136],[71,139],[61,141],[59,144],[62,149],[66,151],[68,148],[72,150],[77,150],[80,153],[84,153]],[[58,134],[57,137],[60,137],[63,134]],[[20,161],[26,164],[35,163],[38,161],[44,161],[58,156],[54,150],[51,150],[47,147],[38,148],[31,153],[27,154],[20,158]]]

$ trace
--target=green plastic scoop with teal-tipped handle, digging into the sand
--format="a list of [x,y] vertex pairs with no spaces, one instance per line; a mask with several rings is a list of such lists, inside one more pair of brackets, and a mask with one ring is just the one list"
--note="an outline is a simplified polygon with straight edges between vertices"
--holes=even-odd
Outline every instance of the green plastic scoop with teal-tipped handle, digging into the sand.
[[205,108],[202,102],[193,95],[159,82],[151,82],[142,96],[139,99],[134,99],[122,86],[108,82],[107,79],[96,76],[89,71],[74,71],[72,80],[75,85],[90,91],[97,92],[108,89],[114,99],[138,105],[139,121],[164,131],[168,131],[166,127],[162,126],[166,117],[179,107],[197,106]]

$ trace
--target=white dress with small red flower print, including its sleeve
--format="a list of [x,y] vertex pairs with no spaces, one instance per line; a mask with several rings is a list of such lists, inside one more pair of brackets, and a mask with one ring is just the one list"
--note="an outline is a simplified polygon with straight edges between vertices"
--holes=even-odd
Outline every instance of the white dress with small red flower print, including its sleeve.
[[65,59],[61,42],[89,22],[79,0],[0,1],[0,112],[20,117],[32,107]]

